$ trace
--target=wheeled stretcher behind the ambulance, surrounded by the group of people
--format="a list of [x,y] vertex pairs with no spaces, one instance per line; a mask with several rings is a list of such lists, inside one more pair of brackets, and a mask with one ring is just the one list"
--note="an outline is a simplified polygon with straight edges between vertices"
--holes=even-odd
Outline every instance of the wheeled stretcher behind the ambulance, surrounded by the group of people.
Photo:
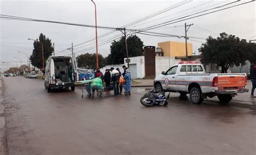
[[[87,91],[87,96],[91,97],[91,83],[92,83],[93,79],[91,80],[84,80],[84,81],[77,81],[75,82],[76,86],[79,86],[80,89],[82,90],[82,98],[84,97],[84,92]],[[112,86],[112,85],[111,85]],[[104,91],[103,92],[109,92],[113,90],[113,87],[104,87]]]

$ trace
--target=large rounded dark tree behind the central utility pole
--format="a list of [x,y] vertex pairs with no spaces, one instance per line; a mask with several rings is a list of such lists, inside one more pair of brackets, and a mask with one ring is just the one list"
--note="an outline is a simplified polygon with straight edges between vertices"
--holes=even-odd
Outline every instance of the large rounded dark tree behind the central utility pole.
[[[143,55],[143,41],[136,35],[127,37],[127,48],[129,57],[138,57]],[[123,64],[126,57],[125,38],[124,36],[113,41],[110,46],[110,55],[106,57],[107,64]]]

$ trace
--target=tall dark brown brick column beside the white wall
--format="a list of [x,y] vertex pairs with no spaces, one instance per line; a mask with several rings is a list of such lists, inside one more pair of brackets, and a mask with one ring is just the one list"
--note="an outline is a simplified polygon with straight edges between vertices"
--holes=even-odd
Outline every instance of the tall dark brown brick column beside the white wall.
[[155,76],[156,75],[156,47],[155,46],[145,46],[145,76]]

